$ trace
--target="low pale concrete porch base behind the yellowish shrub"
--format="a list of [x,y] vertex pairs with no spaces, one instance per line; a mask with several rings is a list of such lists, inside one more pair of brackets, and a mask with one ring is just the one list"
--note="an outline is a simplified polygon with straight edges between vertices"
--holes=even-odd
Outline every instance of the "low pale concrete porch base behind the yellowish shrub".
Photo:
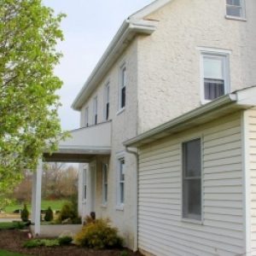
[[[31,225],[32,235],[34,236],[35,226]],[[82,224],[65,225],[41,225],[40,236],[57,237],[60,235],[75,236],[82,230]]]

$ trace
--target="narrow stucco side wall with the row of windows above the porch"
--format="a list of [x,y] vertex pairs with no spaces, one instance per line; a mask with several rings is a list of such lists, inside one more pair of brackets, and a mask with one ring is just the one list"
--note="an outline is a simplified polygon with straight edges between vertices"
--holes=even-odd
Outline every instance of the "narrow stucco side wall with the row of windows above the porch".
[[[127,68],[126,104],[125,110],[118,113],[119,102],[119,67],[125,62]],[[92,125],[93,98],[98,99],[98,123],[104,122],[104,90],[110,83],[110,112],[112,120],[112,152],[108,161],[108,205],[102,207],[102,162],[106,158],[96,159],[96,217],[111,218],[113,225],[117,226],[125,242],[133,247],[134,234],[134,185],[136,160],[133,155],[125,154],[123,142],[137,135],[137,40],[135,39],[125,52],[120,55],[108,74],[93,91],[81,109],[81,126],[84,126],[84,111],[89,106],[89,125]],[[86,143],[86,142],[85,142]],[[123,211],[116,209],[117,204],[117,155],[125,154],[125,207]],[[80,193],[81,194],[81,193]],[[86,207],[86,205],[84,205]],[[84,210],[85,212],[85,210]]]

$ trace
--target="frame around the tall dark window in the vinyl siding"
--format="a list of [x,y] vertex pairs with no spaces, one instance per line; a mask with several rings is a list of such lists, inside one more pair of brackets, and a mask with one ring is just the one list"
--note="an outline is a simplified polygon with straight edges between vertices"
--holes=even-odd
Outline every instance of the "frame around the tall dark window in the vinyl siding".
[[[200,219],[195,219],[195,215],[190,215],[188,217],[184,217],[184,206],[183,206],[183,192],[184,192],[184,183],[183,183],[183,180],[184,180],[184,169],[183,169],[183,144],[184,143],[189,143],[189,142],[192,142],[192,141],[195,141],[195,140],[200,140],[201,143],[200,143],[200,146],[201,146],[201,214],[200,214]],[[203,184],[203,137],[202,136],[199,136],[199,137],[188,137],[186,140],[183,140],[181,143],[181,148],[180,148],[180,152],[181,152],[181,166],[182,166],[182,169],[181,169],[181,172],[182,172],[182,175],[181,175],[181,183],[182,183],[182,186],[181,186],[181,195],[182,195],[182,202],[181,202],[181,219],[183,222],[188,222],[188,223],[193,223],[193,224],[203,224],[203,218],[204,218],[204,212],[203,212],[203,209],[204,209],[204,199],[203,199],[203,196],[204,196],[204,184]]]

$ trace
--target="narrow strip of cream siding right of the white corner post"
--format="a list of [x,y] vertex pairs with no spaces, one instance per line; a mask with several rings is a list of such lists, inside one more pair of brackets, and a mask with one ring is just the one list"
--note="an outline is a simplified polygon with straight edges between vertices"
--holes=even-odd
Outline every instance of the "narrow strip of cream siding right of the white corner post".
[[249,191],[251,208],[251,252],[256,255],[256,108],[247,111],[248,134],[249,139],[249,168],[251,187]]

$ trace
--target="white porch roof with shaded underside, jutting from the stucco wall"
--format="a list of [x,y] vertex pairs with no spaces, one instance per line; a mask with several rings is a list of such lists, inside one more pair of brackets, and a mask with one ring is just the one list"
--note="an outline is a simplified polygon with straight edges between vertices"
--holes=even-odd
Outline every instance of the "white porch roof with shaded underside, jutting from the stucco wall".
[[96,155],[111,152],[111,121],[70,131],[53,154],[44,153],[44,161],[89,162]]

